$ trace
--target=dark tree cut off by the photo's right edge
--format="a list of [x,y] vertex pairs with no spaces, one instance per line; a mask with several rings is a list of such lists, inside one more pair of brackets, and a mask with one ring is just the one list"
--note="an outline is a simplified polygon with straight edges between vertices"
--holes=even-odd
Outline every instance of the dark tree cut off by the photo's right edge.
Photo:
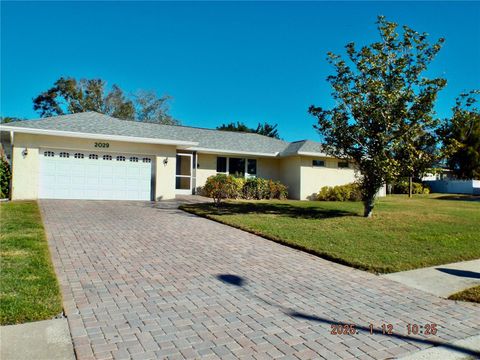
[[447,166],[460,179],[480,179],[480,90],[457,97],[451,119],[438,130]]

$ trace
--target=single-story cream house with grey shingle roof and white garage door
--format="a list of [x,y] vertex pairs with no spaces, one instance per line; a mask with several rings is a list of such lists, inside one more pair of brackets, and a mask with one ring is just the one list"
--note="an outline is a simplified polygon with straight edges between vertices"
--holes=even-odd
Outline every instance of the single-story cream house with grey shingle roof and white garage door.
[[[320,143],[76,113],[0,125],[12,199],[161,200],[195,194],[218,173],[279,180],[293,199],[351,183],[349,161]],[[7,133],[7,136],[5,136]],[[5,144],[8,139],[9,144]]]

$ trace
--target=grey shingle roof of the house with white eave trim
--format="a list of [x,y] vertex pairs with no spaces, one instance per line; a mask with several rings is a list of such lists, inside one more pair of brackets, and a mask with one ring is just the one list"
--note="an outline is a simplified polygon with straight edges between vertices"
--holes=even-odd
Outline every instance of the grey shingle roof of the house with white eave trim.
[[2,124],[0,129],[45,135],[175,144],[184,149],[212,153],[292,156],[308,152],[312,155],[324,155],[321,144],[309,140],[290,143],[255,133],[127,121],[96,112],[16,121]]

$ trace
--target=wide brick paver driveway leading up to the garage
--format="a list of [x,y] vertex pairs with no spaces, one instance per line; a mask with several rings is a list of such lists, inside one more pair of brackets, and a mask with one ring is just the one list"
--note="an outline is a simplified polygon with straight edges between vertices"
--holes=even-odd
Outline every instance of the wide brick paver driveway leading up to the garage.
[[385,359],[480,333],[479,306],[158,207],[41,201],[79,359]]

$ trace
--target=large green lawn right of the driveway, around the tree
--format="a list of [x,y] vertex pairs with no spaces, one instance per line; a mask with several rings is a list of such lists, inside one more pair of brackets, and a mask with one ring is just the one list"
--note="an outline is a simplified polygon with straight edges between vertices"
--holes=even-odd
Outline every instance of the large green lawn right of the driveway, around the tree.
[[480,258],[480,201],[418,195],[360,202],[232,201],[183,210],[377,273]]

